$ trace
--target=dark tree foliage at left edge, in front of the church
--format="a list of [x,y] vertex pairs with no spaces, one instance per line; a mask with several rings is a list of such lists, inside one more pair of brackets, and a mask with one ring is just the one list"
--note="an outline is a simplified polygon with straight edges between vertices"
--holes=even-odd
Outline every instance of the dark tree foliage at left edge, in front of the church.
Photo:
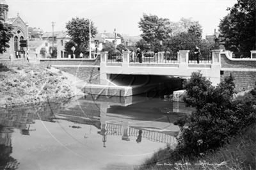
[[0,19],[0,54],[6,52],[6,48],[10,47],[8,43],[10,39],[13,37],[12,29],[13,27],[11,24],[7,24]]

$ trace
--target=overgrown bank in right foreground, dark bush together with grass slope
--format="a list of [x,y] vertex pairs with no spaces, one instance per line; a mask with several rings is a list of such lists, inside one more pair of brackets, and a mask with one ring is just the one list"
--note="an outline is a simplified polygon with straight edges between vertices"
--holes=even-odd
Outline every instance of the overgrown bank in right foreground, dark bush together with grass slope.
[[184,88],[196,111],[175,122],[177,146],[157,151],[140,169],[256,169],[256,87],[237,97],[232,75],[212,86],[194,72]]

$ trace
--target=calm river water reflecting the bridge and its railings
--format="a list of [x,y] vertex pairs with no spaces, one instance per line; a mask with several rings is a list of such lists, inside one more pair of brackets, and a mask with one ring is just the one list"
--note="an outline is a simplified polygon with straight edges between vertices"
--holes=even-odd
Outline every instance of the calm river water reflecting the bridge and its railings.
[[0,110],[0,169],[132,169],[175,144],[184,114],[172,111],[161,98],[90,95]]

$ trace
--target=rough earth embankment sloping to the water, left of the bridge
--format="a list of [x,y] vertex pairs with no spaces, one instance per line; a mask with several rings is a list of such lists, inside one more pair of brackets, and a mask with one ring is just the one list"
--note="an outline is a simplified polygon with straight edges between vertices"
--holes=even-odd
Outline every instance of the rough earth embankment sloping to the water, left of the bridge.
[[[72,75],[40,65],[0,63],[0,107],[28,105],[81,95]],[[72,83],[73,82],[73,83]]]

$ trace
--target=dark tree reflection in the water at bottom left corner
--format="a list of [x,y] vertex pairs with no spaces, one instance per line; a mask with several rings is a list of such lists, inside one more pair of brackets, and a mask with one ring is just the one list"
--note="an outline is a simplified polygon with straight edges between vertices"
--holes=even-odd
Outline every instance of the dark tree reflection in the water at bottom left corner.
[[19,166],[19,162],[10,156],[12,154],[11,132],[0,125],[0,169],[17,169]]

